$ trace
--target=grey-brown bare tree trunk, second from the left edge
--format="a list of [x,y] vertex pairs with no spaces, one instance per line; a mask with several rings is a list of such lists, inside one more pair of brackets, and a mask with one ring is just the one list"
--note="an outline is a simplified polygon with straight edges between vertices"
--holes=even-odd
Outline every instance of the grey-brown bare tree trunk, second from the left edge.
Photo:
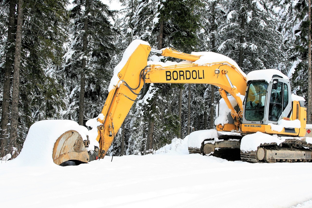
[[21,48],[22,48],[22,30],[23,30],[22,5],[23,0],[18,0],[15,58],[14,58],[15,64],[14,64],[13,91],[12,91],[11,135],[10,135],[9,151],[11,151],[12,147],[16,147],[17,141],[19,76],[21,67]]

